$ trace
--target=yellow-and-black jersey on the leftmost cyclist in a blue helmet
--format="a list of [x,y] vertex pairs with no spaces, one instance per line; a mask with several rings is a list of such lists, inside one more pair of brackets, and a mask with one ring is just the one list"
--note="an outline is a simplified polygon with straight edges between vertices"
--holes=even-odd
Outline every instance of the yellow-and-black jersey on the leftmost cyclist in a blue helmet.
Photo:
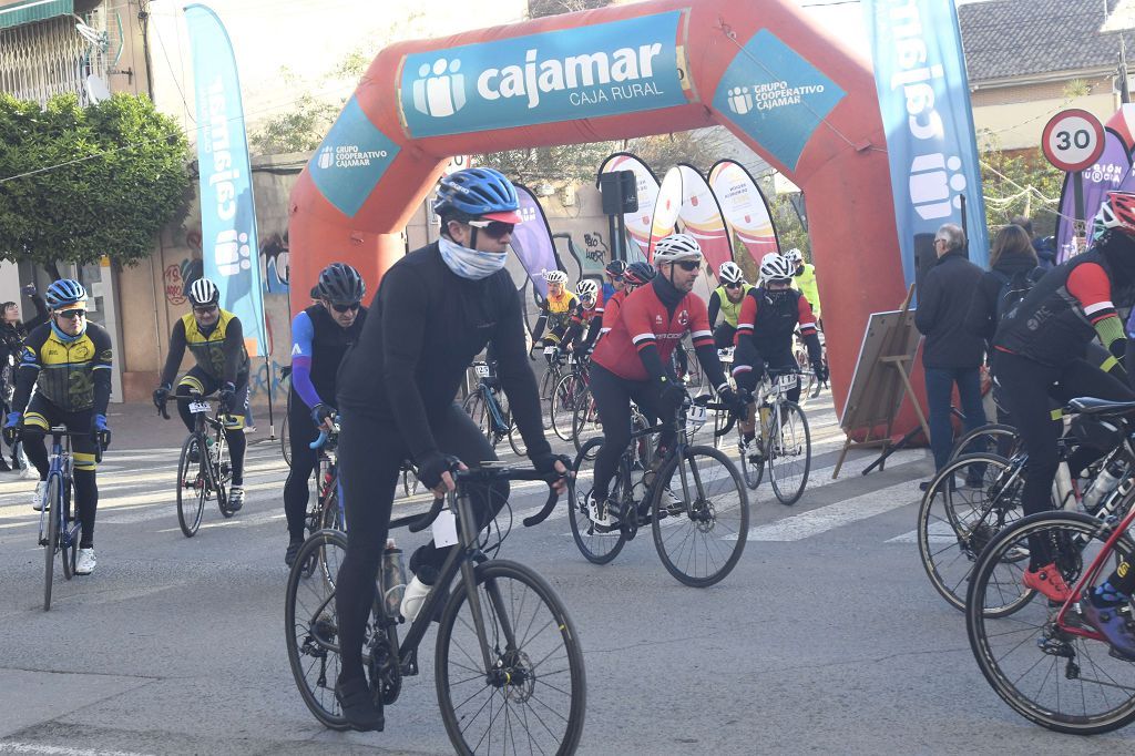
[[86,325],[74,341],[65,341],[51,324],[37,326],[27,335],[16,373],[12,410],[23,412],[32,387],[66,412],[94,409],[107,413],[110,401],[110,334],[102,326]]

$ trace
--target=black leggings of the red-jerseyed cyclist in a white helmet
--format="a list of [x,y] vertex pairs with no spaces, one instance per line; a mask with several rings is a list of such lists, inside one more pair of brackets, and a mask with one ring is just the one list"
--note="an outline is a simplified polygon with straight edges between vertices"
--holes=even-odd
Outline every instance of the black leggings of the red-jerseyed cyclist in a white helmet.
[[[648,422],[659,418],[669,420],[678,408],[663,405],[658,389],[649,380],[620,378],[606,368],[591,363],[591,396],[603,423],[603,446],[595,457],[595,482],[591,492],[597,502],[607,497],[611,479],[619,469],[619,460],[631,443],[631,400]],[[674,440],[674,429],[667,427],[658,438],[661,448]]]

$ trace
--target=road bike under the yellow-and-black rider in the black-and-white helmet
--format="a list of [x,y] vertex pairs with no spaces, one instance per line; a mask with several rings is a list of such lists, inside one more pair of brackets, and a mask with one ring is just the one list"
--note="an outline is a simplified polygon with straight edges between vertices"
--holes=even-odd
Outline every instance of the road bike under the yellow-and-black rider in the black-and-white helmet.
[[[207,501],[216,501],[225,519],[236,514],[228,506],[229,484],[233,480],[233,463],[225,436],[225,419],[228,414],[221,410],[220,400],[215,396],[202,396],[193,392],[188,396],[170,398],[188,402],[193,414],[193,430],[185,437],[177,462],[177,523],[185,537],[192,538],[201,527]],[[212,417],[209,417],[210,404],[217,405]],[[165,402],[158,411],[169,420]]]

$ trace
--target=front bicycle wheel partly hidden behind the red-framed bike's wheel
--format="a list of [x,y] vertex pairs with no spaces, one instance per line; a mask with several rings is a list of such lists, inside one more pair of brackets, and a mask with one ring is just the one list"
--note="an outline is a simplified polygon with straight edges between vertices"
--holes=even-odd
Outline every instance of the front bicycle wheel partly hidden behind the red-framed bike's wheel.
[[[995,454],[965,454],[942,468],[918,507],[918,556],[934,590],[966,608],[974,562],[993,536],[1022,518],[1024,470]],[[1027,551],[1015,555],[1027,558]],[[1016,604],[990,607],[1010,614]]]

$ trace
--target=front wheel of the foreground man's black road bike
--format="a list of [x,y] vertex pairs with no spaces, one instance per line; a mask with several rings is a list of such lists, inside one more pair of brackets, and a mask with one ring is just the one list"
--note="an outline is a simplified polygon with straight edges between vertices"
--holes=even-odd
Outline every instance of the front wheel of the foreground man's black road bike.
[[[474,573],[481,618],[455,586],[437,631],[442,720],[459,754],[489,750],[572,754],[583,733],[587,680],[571,618],[552,587],[515,562]],[[473,603],[476,604],[476,603]],[[476,628],[484,620],[489,666]]]

